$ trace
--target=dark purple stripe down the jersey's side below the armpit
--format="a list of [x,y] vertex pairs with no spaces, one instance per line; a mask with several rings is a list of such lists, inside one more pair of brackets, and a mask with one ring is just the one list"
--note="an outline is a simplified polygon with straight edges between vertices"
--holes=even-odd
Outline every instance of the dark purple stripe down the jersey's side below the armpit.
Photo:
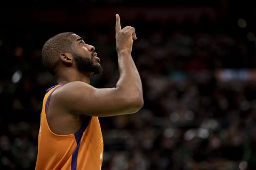
[[76,133],[74,133],[75,138],[76,138],[77,146],[76,146],[75,151],[72,154],[71,170],[76,170],[76,168],[77,168],[78,150],[79,150],[79,147],[80,147],[82,134],[86,130],[86,128],[88,127],[91,119],[92,119],[92,116],[87,116],[86,120],[84,120],[84,122],[83,122],[82,127]]

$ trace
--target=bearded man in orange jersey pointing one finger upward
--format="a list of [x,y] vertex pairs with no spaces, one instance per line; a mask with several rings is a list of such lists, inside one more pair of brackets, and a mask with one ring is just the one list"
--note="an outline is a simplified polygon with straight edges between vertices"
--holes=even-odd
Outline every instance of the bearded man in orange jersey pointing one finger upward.
[[46,68],[57,80],[44,98],[36,169],[101,169],[103,139],[98,116],[138,112],[142,85],[132,59],[135,29],[121,29],[116,14],[116,50],[120,77],[115,88],[95,88],[92,75],[102,71],[95,47],[74,33],[50,38],[42,48]]

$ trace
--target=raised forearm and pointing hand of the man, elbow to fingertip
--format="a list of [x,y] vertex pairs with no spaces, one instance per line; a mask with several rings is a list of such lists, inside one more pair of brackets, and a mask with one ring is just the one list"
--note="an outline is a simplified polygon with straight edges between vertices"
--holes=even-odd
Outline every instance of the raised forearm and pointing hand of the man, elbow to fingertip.
[[131,108],[133,113],[144,104],[140,75],[131,55],[133,40],[136,39],[135,29],[131,26],[122,29],[120,17],[116,14],[116,50],[120,73],[115,89],[116,102],[121,99],[124,108]]

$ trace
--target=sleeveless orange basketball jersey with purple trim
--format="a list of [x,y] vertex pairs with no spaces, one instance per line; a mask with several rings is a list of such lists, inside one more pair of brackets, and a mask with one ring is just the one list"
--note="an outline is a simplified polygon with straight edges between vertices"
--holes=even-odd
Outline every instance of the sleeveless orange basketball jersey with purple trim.
[[36,170],[100,170],[103,161],[103,138],[99,119],[87,116],[76,133],[58,135],[51,131],[47,122],[47,107],[53,91],[62,85],[47,90],[41,111],[38,134]]

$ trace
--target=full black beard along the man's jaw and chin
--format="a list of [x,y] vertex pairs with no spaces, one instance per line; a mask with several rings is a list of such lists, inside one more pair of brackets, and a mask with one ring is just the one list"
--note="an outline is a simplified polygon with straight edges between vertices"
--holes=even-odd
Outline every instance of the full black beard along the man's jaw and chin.
[[76,62],[77,69],[83,75],[88,75],[93,73],[93,75],[102,74],[103,68],[101,65],[93,65],[90,58],[81,57],[79,55],[73,54],[74,61]]

